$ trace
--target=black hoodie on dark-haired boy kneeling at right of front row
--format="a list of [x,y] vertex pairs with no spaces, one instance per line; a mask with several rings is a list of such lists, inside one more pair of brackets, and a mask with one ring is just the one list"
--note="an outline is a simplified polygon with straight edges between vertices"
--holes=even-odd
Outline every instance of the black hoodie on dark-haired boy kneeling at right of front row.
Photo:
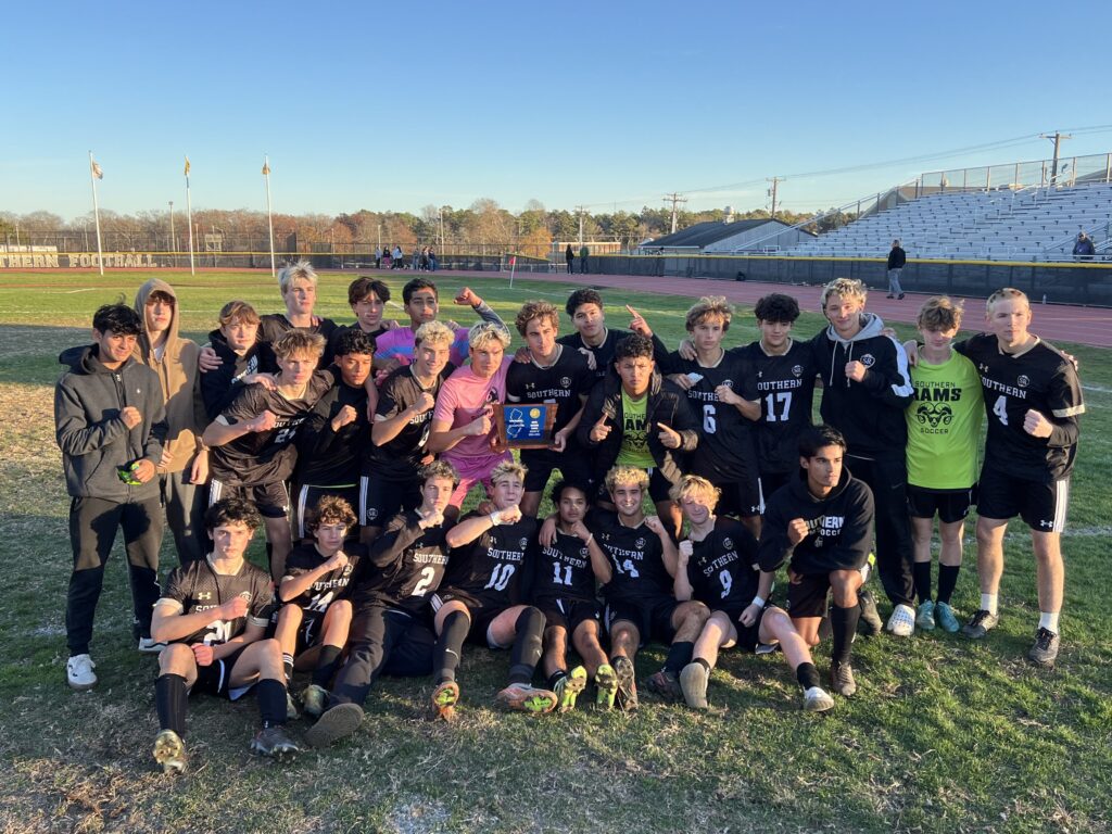
[[[825,498],[807,488],[807,473],[798,475],[773,493],[761,525],[757,562],[773,572],[791,559],[797,574],[828,574],[854,570],[868,558],[873,542],[873,492],[850,470]],[[795,518],[807,523],[807,535],[797,545],[787,538],[787,525]]]

